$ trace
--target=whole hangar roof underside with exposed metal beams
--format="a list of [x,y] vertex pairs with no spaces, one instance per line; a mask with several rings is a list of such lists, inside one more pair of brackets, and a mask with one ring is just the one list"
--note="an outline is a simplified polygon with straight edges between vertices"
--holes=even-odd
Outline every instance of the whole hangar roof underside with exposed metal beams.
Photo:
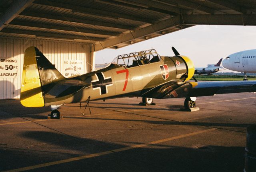
[[1,0],[0,36],[120,48],[198,24],[256,25],[256,0]]

